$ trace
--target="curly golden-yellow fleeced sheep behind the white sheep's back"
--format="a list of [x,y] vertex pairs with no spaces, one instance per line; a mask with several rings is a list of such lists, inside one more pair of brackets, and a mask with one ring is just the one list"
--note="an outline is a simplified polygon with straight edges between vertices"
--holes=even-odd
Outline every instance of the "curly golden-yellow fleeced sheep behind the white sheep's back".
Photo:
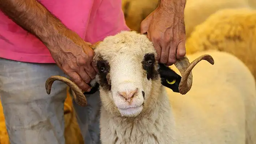
[[186,51],[214,49],[238,57],[256,79],[256,10],[223,9],[214,13],[192,32],[186,42]]

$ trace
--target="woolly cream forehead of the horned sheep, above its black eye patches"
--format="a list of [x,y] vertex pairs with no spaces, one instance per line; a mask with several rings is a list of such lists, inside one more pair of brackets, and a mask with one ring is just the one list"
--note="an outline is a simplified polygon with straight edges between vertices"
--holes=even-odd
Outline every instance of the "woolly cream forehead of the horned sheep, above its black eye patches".
[[153,43],[142,34],[131,31],[123,31],[114,36],[106,37],[95,49],[95,60],[101,57],[107,61],[119,56],[129,56],[131,58],[143,59],[146,53],[156,51]]

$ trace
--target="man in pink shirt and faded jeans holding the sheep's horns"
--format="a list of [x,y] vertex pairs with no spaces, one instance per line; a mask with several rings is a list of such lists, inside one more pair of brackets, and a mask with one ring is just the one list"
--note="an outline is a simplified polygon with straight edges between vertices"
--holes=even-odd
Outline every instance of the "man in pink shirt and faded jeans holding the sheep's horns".
[[[174,64],[185,55],[185,0],[160,0],[142,23],[160,62]],[[90,43],[125,25],[121,0],[0,0],[0,96],[11,144],[64,144],[63,105],[66,85],[51,75],[70,77],[82,90],[97,69]],[[55,64],[56,63],[56,64]],[[99,143],[99,92],[75,102],[86,144]]]

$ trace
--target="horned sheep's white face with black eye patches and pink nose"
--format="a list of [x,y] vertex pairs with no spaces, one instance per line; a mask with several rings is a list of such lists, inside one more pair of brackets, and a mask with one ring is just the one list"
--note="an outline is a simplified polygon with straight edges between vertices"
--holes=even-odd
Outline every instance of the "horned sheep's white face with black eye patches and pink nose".
[[123,31],[97,45],[96,78],[107,110],[136,117],[146,108],[144,104],[152,100],[152,90],[161,86],[156,56],[152,42],[136,32]]

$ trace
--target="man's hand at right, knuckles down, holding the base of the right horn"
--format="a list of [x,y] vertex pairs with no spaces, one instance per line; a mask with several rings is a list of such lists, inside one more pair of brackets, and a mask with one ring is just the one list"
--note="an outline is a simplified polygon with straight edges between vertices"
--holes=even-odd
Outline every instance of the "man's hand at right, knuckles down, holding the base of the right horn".
[[168,66],[186,54],[185,3],[186,0],[160,0],[158,7],[141,22],[141,33],[148,33],[158,60]]

